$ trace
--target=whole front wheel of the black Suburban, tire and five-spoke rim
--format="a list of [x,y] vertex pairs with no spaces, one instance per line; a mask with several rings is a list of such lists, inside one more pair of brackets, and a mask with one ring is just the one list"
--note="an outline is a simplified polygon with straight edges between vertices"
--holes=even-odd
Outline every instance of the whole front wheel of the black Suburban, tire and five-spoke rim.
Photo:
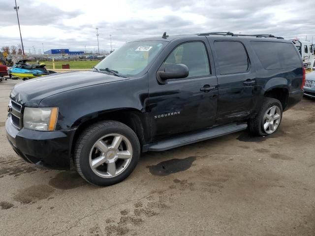
[[76,142],[74,163],[85,180],[108,186],[128,177],[139,156],[139,140],[132,129],[118,121],[102,121],[82,132]]

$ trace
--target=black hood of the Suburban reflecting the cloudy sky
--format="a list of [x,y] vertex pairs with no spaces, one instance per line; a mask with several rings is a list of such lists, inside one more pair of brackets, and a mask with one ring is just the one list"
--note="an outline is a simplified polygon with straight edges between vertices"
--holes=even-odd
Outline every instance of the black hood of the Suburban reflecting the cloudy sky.
[[52,74],[17,84],[10,98],[22,105],[36,107],[45,97],[87,86],[128,80],[95,71],[70,71]]

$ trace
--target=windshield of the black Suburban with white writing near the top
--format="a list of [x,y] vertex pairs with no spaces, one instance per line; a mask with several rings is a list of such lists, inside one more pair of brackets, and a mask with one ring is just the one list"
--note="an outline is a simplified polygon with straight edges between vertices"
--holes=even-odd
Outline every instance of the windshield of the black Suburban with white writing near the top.
[[95,68],[99,71],[108,71],[109,69],[125,76],[139,74],[157,57],[166,43],[164,41],[126,43],[100,61]]

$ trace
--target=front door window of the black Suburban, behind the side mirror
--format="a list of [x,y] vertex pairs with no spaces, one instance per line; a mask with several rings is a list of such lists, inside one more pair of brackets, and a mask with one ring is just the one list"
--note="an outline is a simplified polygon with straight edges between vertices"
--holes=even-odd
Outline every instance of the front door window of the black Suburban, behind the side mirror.
[[202,42],[184,43],[176,47],[167,57],[165,64],[185,64],[189,77],[209,75],[209,60],[205,45]]

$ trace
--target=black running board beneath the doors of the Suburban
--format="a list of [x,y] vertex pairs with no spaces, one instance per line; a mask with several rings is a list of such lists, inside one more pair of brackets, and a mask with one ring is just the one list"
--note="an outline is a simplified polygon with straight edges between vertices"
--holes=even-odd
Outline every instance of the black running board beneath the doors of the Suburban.
[[207,139],[213,139],[225,134],[231,134],[247,128],[246,123],[232,123],[216,128],[211,128],[197,133],[188,134],[185,136],[173,137],[167,140],[159,141],[149,145],[149,151],[165,151],[171,148],[178,148],[184,145],[197,143]]

